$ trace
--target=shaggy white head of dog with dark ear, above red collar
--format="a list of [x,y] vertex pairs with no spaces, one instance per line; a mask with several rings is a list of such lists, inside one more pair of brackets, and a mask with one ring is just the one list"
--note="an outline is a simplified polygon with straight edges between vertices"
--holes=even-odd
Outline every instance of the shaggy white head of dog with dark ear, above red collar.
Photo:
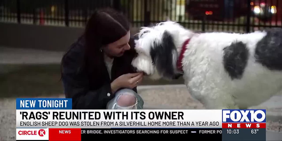
[[132,65],[151,79],[177,79],[181,76],[176,67],[179,47],[189,33],[189,30],[173,21],[142,27],[135,40],[138,56],[133,59]]

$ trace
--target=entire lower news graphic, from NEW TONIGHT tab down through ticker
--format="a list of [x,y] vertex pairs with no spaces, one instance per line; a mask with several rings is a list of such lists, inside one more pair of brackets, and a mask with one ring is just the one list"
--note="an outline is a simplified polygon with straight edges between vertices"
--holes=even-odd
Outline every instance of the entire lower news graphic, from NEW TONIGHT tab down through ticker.
[[[16,101],[17,131],[24,128],[42,129],[38,130],[38,134],[43,135],[45,131],[45,134],[49,133],[52,137],[52,134],[55,136],[58,133],[68,135],[70,133],[63,133],[63,130],[71,129],[74,133],[77,130],[75,136],[83,139],[83,136],[91,136],[93,133],[80,132],[78,135],[78,131],[90,131],[90,128],[93,128],[91,131],[95,132],[95,136],[116,136],[123,135],[124,132],[115,133],[115,131],[132,131],[134,133],[125,134],[134,136],[151,134],[160,137],[189,135],[217,139],[219,139],[217,136],[220,136],[222,140],[266,140],[265,109],[74,110],[71,105],[72,100],[66,98],[17,98]],[[53,133],[56,130],[60,131]],[[216,133],[211,133],[211,130]],[[24,134],[17,132],[17,140],[30,138],[32,135],[28,133],[31,131],[28,131],[23,132]],[[99,133],[97,134],[96,131]],[[154,131],[154,134],[139,133],[139,131]],[[168,132],[163,133],[163,131]],[[174,131],[181,132],[175,134]],[[202,131],[207,132],[202,133]],[[48,136],[48,140],[52,140],[52,137]]]

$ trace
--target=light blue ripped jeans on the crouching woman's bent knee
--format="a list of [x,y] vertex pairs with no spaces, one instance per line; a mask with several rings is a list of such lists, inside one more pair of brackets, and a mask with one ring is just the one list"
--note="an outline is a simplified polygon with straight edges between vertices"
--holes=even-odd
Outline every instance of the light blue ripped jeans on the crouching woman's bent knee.
[[[122,107],[117,104],[121,95],[129,94],[136,97],[136,103],[132,106]],[[107,103],[107,109],[143,109],[144,101],[141,96],[131,89],[120,89],[115,93],[115,97]]]

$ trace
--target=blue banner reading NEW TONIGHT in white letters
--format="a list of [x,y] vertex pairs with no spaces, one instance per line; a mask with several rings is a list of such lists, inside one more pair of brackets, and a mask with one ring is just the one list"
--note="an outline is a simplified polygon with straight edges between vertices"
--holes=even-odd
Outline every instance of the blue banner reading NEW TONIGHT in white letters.
[[72,109],[71,98],[16,98],[17,110]]

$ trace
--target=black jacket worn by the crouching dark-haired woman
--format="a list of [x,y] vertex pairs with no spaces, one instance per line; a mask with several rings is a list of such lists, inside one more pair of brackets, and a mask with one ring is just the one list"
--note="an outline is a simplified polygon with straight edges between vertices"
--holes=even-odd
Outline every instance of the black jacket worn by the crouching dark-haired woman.
[[[66,98],[72,98],[72,109],[106,109],[107,103],[114,98],[111,82],[122,74],[135,72],[131,66],[131,61],[136,55],[133,38],[130,39],[129,45],[131,49],[113,61],[112,80],[104,63],[102,68],[96,68],[102,69],[101,74],[92,74],[100,76],[99,80],[91,80],[95,77],[89,76],[89,73],[81,67],[85,55],[83,36],[71,45],[62,59],[62,81]],[[137,92],[136,87],[133,90]]]

